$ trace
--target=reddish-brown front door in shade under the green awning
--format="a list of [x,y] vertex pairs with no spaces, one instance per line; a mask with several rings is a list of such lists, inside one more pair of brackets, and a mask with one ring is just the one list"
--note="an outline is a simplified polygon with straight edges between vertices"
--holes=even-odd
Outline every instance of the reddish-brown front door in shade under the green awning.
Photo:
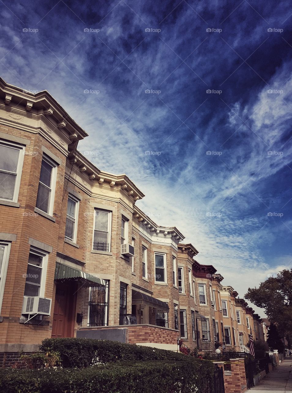
[[52,337],[73,337],[75,321],[75,286],[57,284],[54,304]]

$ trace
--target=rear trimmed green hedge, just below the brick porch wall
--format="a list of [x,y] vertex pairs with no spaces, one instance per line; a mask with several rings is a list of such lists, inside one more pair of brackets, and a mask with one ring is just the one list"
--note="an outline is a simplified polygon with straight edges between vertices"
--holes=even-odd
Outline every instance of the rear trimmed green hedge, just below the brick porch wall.
[[185,355],[135,344],[90,338],[46,338],[40,351],[58,351],[63,367],[88,367],[94,357],[102,363],[147,360],[182,360]]

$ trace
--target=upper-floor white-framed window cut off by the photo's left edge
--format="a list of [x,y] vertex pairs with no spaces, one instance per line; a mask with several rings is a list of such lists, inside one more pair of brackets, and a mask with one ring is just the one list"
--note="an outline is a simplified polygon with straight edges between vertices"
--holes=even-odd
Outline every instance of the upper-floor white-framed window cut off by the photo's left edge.
[[24,146],[0,141],[0,199],[17,202]]

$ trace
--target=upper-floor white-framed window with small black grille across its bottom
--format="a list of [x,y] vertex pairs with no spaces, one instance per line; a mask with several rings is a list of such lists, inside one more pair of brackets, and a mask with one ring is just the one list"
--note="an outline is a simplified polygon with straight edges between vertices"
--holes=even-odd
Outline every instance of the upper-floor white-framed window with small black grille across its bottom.
[[111,211],[95,209],[93,250],[109,251],[111,249]]

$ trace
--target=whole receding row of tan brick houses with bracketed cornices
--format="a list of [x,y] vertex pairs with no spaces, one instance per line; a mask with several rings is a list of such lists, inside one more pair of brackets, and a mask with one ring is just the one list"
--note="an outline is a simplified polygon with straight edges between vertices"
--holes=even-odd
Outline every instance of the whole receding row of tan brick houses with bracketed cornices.
[[205,351],[260,339],[257,314],[178,228],[78,151],[86,136],[48,92],[0,79],[0,360],[47,337]]

